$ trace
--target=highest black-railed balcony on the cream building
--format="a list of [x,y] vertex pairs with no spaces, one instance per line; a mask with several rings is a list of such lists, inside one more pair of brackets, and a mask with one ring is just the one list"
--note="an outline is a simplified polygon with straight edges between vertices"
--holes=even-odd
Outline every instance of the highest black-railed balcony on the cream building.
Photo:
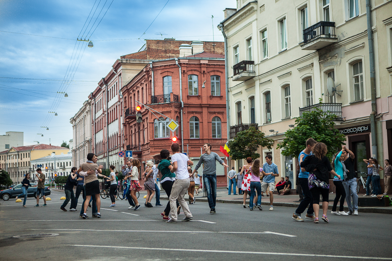
[[335,22],[318,22],[303,30],[302,50],[319,50],[336,43]]

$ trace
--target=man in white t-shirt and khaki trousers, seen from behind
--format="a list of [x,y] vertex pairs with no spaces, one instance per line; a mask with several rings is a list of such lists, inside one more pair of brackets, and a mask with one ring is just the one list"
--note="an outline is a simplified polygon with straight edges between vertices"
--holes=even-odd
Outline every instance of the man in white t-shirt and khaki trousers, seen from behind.
[[171,145],[173,156],[171,157],[171,163],[173,165],[171,173],[176,173],[176,180],[172,186],[170,193],[170,212],[171,219],[166,223],[177,223],[177,205],[176,200],[180,203],[181,208],[184,211],[185,218],[182,221],[192,220],[192,213],[189,211],[188,203],[184,199],[184,195],[187,192],[190,184],[188,164],[193,165],[193,162],[189,158],[180,153],[180,145],[173,143]]

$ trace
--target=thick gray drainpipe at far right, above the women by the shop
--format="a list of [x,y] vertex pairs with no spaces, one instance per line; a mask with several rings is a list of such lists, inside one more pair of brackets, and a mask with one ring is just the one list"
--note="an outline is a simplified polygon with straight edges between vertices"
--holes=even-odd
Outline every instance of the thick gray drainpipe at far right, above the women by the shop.
[[372,154],[377,158],[377,127],[376,127],[376,76],[374,68],[374,47],[372,32],[372,13],[370,0],[366,0],[366,18],[368,26],[368,42],[369,42],[369,60],[370,60],[370,91],[372,94],[372,113],[370,113],[370,131],[372,132]]

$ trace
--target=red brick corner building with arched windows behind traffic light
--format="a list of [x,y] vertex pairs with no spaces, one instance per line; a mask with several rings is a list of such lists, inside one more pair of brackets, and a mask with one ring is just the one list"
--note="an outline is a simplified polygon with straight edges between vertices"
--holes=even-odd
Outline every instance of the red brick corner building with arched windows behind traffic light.
[[[227,141],[223,48],[219,54],[216,49],[214,54],[203,48],[204,43],[199,41],[182,43],[176,54],[179,58],[151,61],[121,89],[124,149],[132,150],[134,157],[140,159],[142,171],[148,160],[160,158],[162,149],[170,150],[173,136],[178,137],[181,150],[195,164],[206,142],[227,162],[219,152],[219,146]],[[165,116],[143,107],[142,121],[136,122],[135,100]],[[174,133],[162,123],[170,119],[180,124]],[[227,169],[218,163],[218,186],[227,185],[226,175]]]

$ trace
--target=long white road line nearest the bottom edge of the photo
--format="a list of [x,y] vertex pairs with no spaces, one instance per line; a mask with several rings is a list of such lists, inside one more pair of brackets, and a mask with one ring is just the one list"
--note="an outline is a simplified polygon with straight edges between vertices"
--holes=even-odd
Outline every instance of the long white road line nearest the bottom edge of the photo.
[[350,258],[350,259],[371,259],[371,260],[392,260],[392,257],[368,257],[368,256],[334,256],[320,254],[300,254],[300,253],[279,253],[279,252],[256,252],[256,251],[231,251],[231,250],[203,250],[203,249],[182,249],[182,248],[157,248],[157,247],[120,247],[104,245],[65,245],[71,247],[105,247],[105,248],[123,248],[123,249],[142,249],[142,250],[166,250],[166,251],[183,251],[183,252],[207,252],[207,253],[224,253],[224,254],[258,254],[258,255],[276,255],[276,256],[311,256],[311,257],[332,257],[332,258]]

